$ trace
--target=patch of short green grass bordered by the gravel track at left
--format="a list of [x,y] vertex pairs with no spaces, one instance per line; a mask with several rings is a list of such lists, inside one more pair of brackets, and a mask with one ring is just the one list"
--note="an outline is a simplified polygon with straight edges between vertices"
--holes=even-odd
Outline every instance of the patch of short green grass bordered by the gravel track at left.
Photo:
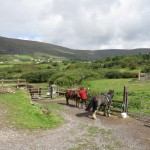
[[[0,103],[7,108],[9,112],[7,119],[16,128],[49,129],[64,123],[64,119],[54,113],[50,107],[47,109],[48,113],[43,113],[41,106],[31,105],[28,95],[22,91],[14,94],[1,94]],[[54,108],[59,108],[59,106],[54,106]]]

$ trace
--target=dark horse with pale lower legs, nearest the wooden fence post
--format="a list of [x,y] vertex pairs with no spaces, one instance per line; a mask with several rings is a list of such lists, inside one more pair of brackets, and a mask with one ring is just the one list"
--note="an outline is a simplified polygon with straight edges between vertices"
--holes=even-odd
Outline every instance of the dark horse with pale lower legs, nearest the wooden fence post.
[[109,90],[109,92],[107,94],[102,93],[99,95],[95,95],[91,98],[91,100],[85,110],[89,111],[92,108],[93,109],[92,116],[94,119],[96,119],[96,111],[99,109],[100,106],[103,106],[104,107],[104,115],[106,116],[106,113],[107,113],[107,115],[110,116],[109,111],[110,111],[110,106],[111,106],[113,96],[114,96],[114,90]]

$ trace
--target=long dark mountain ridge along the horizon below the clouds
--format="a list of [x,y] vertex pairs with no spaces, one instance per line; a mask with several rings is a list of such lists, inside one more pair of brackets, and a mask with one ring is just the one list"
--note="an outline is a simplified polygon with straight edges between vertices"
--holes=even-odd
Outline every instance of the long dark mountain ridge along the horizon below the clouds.
[[116,55],[131,55],[150,53],[150,48],[138,49],[105,49],[105,50],[75,50],[53,44],[11,39],[0,36],[0,54],[28,54],[45,53],[57,57],[66,57],[74,60],[103,59]]

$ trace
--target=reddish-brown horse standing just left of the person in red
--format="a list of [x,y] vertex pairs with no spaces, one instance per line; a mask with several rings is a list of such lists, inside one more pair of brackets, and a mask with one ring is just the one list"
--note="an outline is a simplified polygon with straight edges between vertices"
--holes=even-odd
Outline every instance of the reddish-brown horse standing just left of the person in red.
[[69,105],[69,99],[73,99],[74,101],[76,101],[76,107],[79,107],[80,95],[78,89],[76,90],[68,89],[65,93],[65,97],[67,105]]

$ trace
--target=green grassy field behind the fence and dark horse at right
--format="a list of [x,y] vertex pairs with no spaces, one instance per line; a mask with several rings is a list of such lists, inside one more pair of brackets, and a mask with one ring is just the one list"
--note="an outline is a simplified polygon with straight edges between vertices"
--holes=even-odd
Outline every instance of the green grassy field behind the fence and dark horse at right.
[[[84,87],[90,88],[90,95],[107,93],[109,89],[115,91],[114,100],[123,101],[124,86],[128,89],[128,109],[136,114],[150,115],[150,82],[140,82],[135,79],[101,79],[85,81]],[[121,108],[121,104],[115,104]]]

